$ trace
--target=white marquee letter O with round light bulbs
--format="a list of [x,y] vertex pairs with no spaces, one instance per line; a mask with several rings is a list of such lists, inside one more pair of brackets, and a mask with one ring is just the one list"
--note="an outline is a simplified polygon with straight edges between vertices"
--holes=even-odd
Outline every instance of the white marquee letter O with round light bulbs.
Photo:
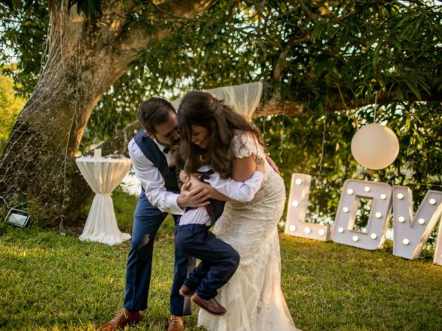
[[[349,195],[348,190],[352,190],[354,193]],[[385,196],[384,199],[381,196]],[[367,233],[353,230],[361,198],[373,199],[367,223]],[[343,207],[344,205],[346,207]],[[347,179],[342,194],[340,194],[338,211],[332,228],[332,240],[336,243],[366,250],[381,248],[385,241],[391,209],[392,187],[390,185],[374,181]],[[343,229],[347,229],[347,231]]]

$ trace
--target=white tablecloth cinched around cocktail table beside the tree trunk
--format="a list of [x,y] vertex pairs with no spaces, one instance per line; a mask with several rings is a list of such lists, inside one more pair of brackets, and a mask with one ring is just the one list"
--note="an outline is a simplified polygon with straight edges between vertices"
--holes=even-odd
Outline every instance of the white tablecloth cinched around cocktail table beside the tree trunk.
[[79,239],[115,245],[131,238],[119,231],[111,192],[131,169],[127,158],[79,157],[75,160],[84,179],[95,192],[88,219]]

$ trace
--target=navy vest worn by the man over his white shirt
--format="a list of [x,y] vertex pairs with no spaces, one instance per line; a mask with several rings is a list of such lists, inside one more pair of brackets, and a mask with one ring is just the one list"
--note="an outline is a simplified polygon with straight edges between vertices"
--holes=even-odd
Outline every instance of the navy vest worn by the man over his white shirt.
[[180,188],[178,187],[177,174],[175,173],[175,167],[169,168],[167,164],[167,159],[158,148],[157,144],[151,137],[149,137],[144,130],[139,131],[133,137],[133,140],[143,152],[144,156],[150,160],[155,167],[160,170],[160,174],[164,179],[164,186],[166,190],[172,192],[179,192]]

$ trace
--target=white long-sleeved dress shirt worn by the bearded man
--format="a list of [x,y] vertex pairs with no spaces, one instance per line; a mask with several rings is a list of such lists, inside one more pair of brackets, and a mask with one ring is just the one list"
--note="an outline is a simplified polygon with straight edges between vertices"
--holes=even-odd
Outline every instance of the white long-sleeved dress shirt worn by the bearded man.
[[[164,146],[158,143],[155,139],[153,139],[153,141],[155,141],[160,148],[160,151],[164,150]],[[166,191],[164,179],[160,170],[153,165],[151,160],[144,156],[142,150],[140,150],[134,139],[129,141],[128,150],[133,170],[135,170],[137,179],[140,179],[141,181],[141,185],[144,188],[148,201],[162,212],[170,212],[171,214],[178,215],[183,214],[184,209],[177,203],[180,194]],[[166,157],[167,164],[170,164],[170,153],[163,152],[163,154]]]

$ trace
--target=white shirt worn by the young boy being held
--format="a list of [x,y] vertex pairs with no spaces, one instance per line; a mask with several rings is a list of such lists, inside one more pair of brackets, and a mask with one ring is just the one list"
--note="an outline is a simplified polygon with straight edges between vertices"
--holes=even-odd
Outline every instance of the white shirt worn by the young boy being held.
[[[204,165],[198,171],[211,170],[209,165]],[[253,175],[247,181],[234,181],[231,178],[222,179],[218,172],[209,175],[209,179],[204,179],[204,183],[208,183],[212,188],[224,194],[232,200],[239,202],[249,202],[255,197],[256,192],[261,188],[263,179],[262,172],[253,172]],[[180,225],[202,224],[210,226],[212,224],[211,217],[207,213],[205,207],[191,209],[185,212],[180,218]]]

